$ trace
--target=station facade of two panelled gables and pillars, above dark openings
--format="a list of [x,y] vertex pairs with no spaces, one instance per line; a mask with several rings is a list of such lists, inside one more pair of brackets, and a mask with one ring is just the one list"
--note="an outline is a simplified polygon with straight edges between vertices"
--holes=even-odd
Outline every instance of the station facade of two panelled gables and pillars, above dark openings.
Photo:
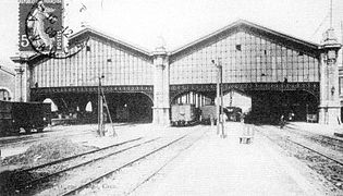
[[232,89],[247,95],[260,90],[274,95],[287,91],[291,96],[293,91],[308,91],[320,100],[316,102],[320,122],[333,123],[340,122],[335,60],[341,44],[332,29],[323,35],[321,45],[317,45],[237,21],[174,51],[158,46],[149,52],[85,28],[73,40],[89,38],[87,46],[73,57],[21,56],[12,60],[24,68],[25,85],[16,91],[23,93],[25,101],[30,99],[30,93],[41,98],[79,93],[96,95],[98,78],[103,75],[107,94],[145,94],[154,102],[152,122],[168,124],[170,103],[192,99],[201,106],[209,99],[213,101],[216,65],[220,64],[225,93]]

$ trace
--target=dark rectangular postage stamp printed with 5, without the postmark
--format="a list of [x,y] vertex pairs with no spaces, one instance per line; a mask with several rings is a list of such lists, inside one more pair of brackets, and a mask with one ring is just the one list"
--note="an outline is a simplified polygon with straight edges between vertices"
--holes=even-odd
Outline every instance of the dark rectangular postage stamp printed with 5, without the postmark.
[[[19,0],[20,51],[62,50],[62,0]],[[32,44],[32,45],[30,45]],[[53,50],[54,50],[53,49]]]

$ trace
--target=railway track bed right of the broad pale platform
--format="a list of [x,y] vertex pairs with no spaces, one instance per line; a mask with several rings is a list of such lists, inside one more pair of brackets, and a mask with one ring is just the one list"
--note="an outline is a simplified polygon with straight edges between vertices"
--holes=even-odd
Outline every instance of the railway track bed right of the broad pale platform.
[[292,156],[304,161],[309,168],[331,182],[335,188],[343,191],[342,154],[328,154],[322,147],[319,147],[318,144],[314,144],[314,142],[308,143],[304,139],[296,139],[282,133],[282,131],[277,132],[275,130],[279,128],[273,128],[268,134],[260,128],[257,131]]

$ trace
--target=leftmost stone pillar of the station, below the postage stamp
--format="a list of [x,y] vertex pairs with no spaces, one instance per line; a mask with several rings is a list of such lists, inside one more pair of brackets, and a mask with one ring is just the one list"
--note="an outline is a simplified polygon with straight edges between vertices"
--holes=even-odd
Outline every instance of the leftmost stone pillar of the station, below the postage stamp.
[[28,56],[12,57],[15,65],[14,101],[30,101],[32,70],[28,65]]

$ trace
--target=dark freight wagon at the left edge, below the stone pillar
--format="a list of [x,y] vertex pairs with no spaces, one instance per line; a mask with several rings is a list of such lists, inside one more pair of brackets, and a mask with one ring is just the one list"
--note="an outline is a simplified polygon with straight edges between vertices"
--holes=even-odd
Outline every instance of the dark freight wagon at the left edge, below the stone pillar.
[[17,135],[21,128],[42,132],[51,123],[51,103],[0,101],[0,136]]

